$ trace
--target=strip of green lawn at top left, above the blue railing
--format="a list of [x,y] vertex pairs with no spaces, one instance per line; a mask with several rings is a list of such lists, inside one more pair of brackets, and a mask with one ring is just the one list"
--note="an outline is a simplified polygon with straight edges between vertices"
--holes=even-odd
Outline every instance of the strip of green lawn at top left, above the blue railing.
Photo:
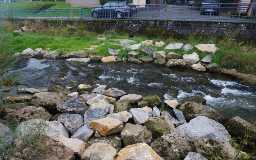
[[[44,1],[41,1],[37,3],[38,1],[30,1],[30,2],[12,2],[12,3],[0,3],[0,10],[2,9],[29,9],[31,6],[31,9],[38,9],[44,6]],[[34,5],[36,4],[36,5]],[[56,9],[56,8],[72,8],[70,4],[67,4],[65,1],[45,1],[45,4],[56,4],[51,7],[51,9]],[[33,6],[34,5],[34,6]]]

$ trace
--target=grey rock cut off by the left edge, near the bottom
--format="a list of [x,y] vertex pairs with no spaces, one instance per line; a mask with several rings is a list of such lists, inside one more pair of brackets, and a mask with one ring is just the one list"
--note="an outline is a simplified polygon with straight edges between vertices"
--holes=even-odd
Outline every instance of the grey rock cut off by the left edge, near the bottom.
[[0,148],[8,144],[10,145],[12,143],[13,141],[12,135],[13,133],[10,130],[10,128],[0,123]]

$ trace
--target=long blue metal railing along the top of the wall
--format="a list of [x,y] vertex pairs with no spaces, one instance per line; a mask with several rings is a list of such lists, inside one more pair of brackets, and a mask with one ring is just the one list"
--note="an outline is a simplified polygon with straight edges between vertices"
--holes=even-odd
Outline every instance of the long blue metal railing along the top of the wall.
[[179,19],[256,22],[256,3],[149,4],[70,9],[3,10],[0,17],[22,19]]

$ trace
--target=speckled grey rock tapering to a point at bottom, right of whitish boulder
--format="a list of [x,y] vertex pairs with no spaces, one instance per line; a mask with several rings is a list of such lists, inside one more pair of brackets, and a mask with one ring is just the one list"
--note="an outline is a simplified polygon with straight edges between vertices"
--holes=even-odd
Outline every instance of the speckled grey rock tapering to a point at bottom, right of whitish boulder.
[[61,114],[58,116],[58,121],[65,126],[71,135],[75,133],[78,128],[84,125],[83,117],[78,114]]

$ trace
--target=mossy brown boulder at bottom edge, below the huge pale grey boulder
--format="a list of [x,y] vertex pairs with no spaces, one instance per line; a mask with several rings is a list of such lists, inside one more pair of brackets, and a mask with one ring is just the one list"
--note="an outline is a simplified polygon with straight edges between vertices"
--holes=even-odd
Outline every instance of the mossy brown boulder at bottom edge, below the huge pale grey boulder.
[[219,157],[220,159],[234,159],[237,155],[235,148],[229,142],[201,139],[198,137],[193,142],[197,152],[209,159],[215,159],[215,157]]

